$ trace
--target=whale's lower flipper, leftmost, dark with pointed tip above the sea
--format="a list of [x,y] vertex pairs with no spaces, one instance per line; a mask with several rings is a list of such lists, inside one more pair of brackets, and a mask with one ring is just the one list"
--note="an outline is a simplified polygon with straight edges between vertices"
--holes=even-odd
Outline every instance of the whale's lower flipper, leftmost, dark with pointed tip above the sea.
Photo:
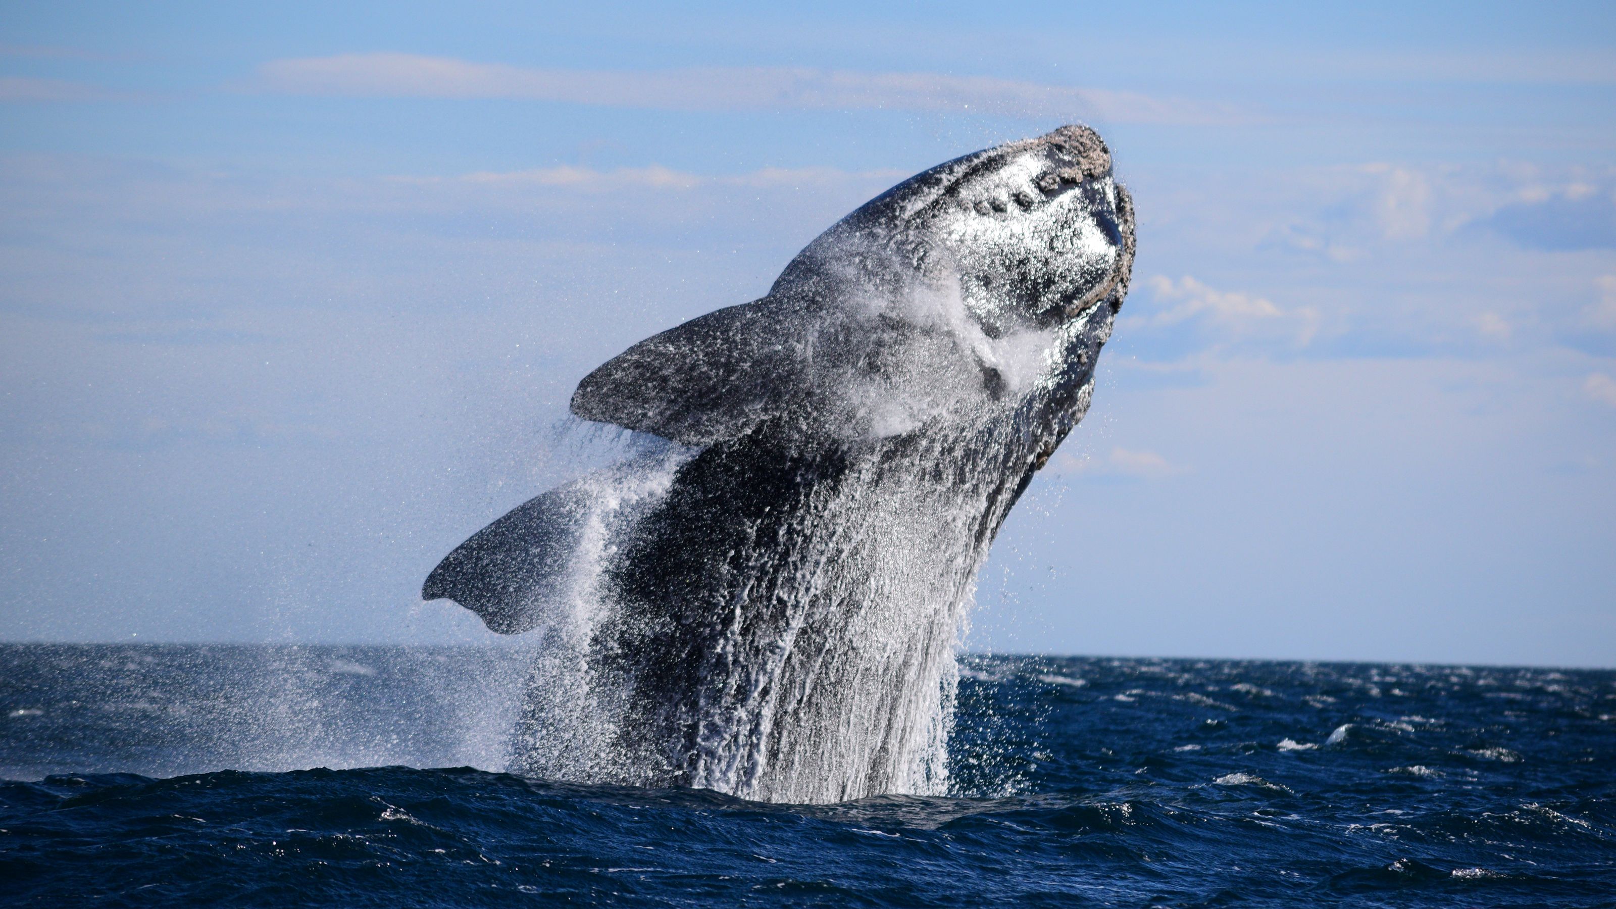
[[583,516],[574,485],[532,498],[446,555],[420,595],[454,600],[499,634],[528,631],[566,592]]

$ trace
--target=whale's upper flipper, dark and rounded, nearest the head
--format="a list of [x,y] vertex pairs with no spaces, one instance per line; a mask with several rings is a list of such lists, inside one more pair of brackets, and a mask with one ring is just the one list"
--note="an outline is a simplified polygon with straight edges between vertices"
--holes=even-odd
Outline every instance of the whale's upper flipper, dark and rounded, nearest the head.
[[692,319],[583,377],[572,412],[684,445],[745,435],[803,387],[808,323],[774,298]]

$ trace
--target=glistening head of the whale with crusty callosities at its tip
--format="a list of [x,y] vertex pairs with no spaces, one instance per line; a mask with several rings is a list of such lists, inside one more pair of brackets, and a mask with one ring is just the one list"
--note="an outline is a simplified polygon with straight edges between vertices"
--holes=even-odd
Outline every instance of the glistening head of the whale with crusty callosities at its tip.
[[771,296],[903,299],[953,286],[989,335],[1050,327],[1100,301],[1122,306],[1133,201],[1105,142],[1062,126],[937,165],[871,199],[816,238]]

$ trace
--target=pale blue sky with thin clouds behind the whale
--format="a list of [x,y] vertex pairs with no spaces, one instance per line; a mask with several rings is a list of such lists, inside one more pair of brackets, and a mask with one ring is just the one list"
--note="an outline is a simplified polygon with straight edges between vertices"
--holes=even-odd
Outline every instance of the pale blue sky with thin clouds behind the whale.
[[1616,665],[1616,6],[18,3],[0,639],[490,642],[629,345],[1068,121],[1094,406],[968,647]]

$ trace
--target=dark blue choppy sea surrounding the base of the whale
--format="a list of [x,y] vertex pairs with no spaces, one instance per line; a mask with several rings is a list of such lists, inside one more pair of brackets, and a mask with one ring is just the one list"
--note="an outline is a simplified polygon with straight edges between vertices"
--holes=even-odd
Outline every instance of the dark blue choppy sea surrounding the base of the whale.
[[0,647],[0,901],[1616,906],[1613,671],[976,657],[955,796],[798,807],[452,767],[522,658]]

